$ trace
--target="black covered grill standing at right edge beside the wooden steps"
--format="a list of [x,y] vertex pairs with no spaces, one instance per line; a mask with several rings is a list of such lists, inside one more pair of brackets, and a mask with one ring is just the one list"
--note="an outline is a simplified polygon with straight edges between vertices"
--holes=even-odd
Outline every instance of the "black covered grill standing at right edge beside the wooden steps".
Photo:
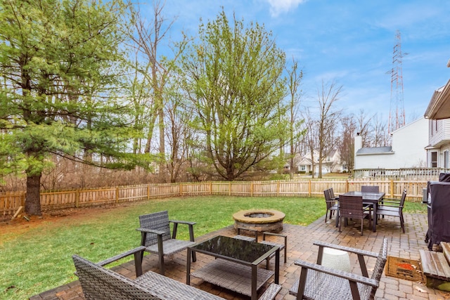
[[[439,176],[440,177],[440,176]],[[428,249],[450,242],[450,182],[428,183]]]

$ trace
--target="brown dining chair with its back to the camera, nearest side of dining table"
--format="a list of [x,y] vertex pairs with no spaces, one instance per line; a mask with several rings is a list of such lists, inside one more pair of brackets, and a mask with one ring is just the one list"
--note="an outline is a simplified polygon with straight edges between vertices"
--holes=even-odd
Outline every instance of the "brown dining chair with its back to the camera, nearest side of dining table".
[[[363,235],[363,221],[368,219],[369,228],[372,227],[372,211],[370,206],[363,204],[361,196],[339,196],[339,232],[342,226],[342,218],[361,220],[361,235]],[[347,221],[347,220],[346,220]]]

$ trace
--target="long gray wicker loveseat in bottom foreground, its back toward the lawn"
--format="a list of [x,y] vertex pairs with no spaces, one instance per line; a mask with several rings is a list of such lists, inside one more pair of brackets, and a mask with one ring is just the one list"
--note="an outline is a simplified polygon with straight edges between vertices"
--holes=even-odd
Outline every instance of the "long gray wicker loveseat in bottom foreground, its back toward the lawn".
[[[113,270],[103,268],[80,256],[73,255],[72,259],[77,269],[77,276],[87,300],[219,300],[223,299],[214,294],[185,285],[182,282],[148,271],[135,280],[131,280]],[[272,283],[266,288],[259,300],[275,299],[281,286]]]

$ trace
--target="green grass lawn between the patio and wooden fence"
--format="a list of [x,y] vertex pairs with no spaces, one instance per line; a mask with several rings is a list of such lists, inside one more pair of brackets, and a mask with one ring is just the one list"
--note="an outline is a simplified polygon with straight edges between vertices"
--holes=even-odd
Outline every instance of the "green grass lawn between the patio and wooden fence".
[[[176,197],[0,223],[0,299],[27,299],[77,280],[72,254],[101,261],[138,246],[141,214],[167,210],[169,219],[195,221],[198,237],[232,225],[236,211],[256,208],[283,211],[285,223],[307,226],[323,216],[325,202],[323,197]],[[405,212],[426,214],[426,205],[408,202]],[[179,226],[177,237],[188,240],[187,226]]]

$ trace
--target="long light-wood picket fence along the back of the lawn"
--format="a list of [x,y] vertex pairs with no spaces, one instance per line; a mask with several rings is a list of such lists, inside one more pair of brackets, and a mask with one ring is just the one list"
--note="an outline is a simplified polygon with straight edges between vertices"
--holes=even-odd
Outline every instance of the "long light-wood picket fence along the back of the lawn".
[[[90,207],[103,204],[118,204],[162,197],[229,195],[243,197],[323,197],[323,190],[333,187],[336,195],[351,190],[361,190],[361,185],[378,185],[386,197],[400,197],[408,191],[408,200],[421,201],[427,181],[365,181],[347,180],[299,180],[299,181],[241,181],[165,183],[119,186],[91,190],[62,190],[41,193],[43,211],[72,207]],[[14,214],[25,204],[25,192],[0,194],[0,213]]]

